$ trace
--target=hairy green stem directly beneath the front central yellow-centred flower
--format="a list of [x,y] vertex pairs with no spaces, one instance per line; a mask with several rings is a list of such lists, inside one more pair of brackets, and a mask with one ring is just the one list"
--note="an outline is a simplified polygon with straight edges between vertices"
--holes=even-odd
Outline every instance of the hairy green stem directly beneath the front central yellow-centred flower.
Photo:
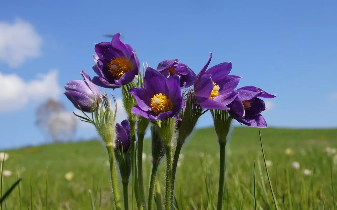
[[171,141],[165,146],[166,150],[166,188],[165,188],[165,210],[171,208],[171,177],[172,177],[172,159],[171,159]]

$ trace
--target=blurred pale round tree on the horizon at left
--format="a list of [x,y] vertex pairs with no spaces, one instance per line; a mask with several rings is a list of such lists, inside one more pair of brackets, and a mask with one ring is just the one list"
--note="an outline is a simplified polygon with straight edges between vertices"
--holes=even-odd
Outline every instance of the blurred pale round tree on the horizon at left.
[[75,134],[77,119],[65,111],[64,104],[48,99],[36,110],[36,125],[54,142],[69,141]]

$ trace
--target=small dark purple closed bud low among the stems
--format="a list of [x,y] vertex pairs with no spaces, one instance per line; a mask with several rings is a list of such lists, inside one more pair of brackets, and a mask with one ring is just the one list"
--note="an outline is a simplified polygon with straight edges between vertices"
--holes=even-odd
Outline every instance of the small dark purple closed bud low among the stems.
[[116,123],[116,144],[119,150],[127,152],[131,145],[130,123],[128,120],[123,120],[121,124]]

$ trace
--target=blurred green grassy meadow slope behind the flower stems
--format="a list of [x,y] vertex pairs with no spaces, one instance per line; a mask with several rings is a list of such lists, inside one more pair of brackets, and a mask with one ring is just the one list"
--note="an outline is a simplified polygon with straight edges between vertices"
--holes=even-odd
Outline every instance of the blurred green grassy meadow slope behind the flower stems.
[[[337,154],[332,159],[326,147],[337,147],[337,129],[262,129],[262,139],[273,189],[280,209],[336,209],[332,195],[331,167],[337,200]],[[145,141],[145,192],[148,190],[150,141]],[[285,150],[290,148],[291,155]],[[4,177],[5,190],[21,182],[22,209],[30,206],[32,180],[33,208],[46,209],[46,168],[48,167],[48,209],[91,209],[89,189],[95,209],[114,209],[108,159],[99,141],[43,145],[7,151],[4,169],[13,172]],[[178,209],[213,209],[217,199],[219,148],[213,128],[196,130],[182,149],[177,170],[175,197]],[[335,160],[334,160],[335,159]],[[165,177],[165,158],[159,171],[161,191]],[[256,160],[256,199],[258,209],[274,209],[259,142],[258,129],[236,127],[226,146],[224,209],[254,209],[253,170]],[[298,161],[298,170],[292,162]],[[304,169],[312,171],[305,175]],[[72,171],[71,181],[65,174]],[[119,171],[117,171],[119,175]],[[120,178],[118,176],[118,178]],[[119,185],[122,199],[122,187]],[[131,192],[131,179],[129,184]],[[146,193],[147,195],[147,193]],[[163,196],[163,195],[162,195]],[[163,199],[162,199],[163,200]],[[131,194],[129,195],[131,203]],[[134,209],[136,209],[135,201]],[[20,209],[18,188],[6,199],[2,210]],[[130,208],[131,209],[131,208]]]

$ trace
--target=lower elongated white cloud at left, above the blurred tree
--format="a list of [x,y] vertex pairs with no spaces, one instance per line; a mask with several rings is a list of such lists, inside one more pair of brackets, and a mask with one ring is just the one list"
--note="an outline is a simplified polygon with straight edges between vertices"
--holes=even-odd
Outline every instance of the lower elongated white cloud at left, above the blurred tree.
[[0,72],[0,112],[18,110],[28,102],[39,102],[47,98],[58,98],[61,88],[57,83],[57,70],[38,74],[37,79],[24,81],[17,74]]

